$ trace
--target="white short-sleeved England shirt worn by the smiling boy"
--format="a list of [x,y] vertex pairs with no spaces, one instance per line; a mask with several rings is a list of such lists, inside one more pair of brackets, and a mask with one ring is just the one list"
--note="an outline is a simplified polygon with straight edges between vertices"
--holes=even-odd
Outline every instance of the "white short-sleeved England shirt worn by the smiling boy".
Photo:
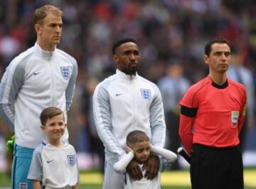
[[33,152],[28,179],[42,181],[46,188],[71,188],[78,183],[75,149],[64,143],[57,148],[42,142]]

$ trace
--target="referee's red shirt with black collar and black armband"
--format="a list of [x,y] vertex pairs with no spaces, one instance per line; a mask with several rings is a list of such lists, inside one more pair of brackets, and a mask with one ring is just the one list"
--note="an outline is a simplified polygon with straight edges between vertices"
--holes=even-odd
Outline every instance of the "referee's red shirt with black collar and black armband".
[[190,154],[192,144],[234,147],[245,118],[246,91],[228,79],[218,86],[207,76],[194,84],[180,101],[179,135]]

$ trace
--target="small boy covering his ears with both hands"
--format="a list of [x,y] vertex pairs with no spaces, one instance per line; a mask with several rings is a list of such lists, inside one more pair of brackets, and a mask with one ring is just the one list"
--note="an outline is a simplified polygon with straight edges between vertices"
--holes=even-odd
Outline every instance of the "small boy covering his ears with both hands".
[[[174,164],[177,159],[177,155],[167,149],[161,147],[154,147],[149,142],[149,137],[146,136],[145,132],[140,130],[134,130],[127,135],[127,146],[126,150],[128,154],[122,156],[122,159],[114,164],[114,171],[125,174],[124,189],[132,188],[146,188],[146,189],[160,189],[161,188],[161,171],[159,169],[158,174],[152,180],[144,177],[146,173],[146,167],[144,163],[151,154],[157,154],[166,159],[168,164]],[[140,180],[134,180],[125,173],[125,168],[132,159],[138,162],[138,167],[142,169],[143,178]],[[163,165],[161,166],[163,167]]]

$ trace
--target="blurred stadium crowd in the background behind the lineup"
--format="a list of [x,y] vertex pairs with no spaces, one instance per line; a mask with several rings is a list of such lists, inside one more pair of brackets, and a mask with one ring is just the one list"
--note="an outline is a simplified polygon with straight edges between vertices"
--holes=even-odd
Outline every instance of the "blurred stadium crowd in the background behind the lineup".
[[31,18],[43,4],[63,10],[64,28],[58,47],[78,61],[68,127],[70,143],[84,152],[81,159],[86,161],[81,166],[85,168],[99,163],[94,162],[97,158],[87,161],[87,155],[103,154],[92,119],[91,96],[97,83],[115,71],[111,50],[119,38],[139,41],[139,74],[150,81],[159,84],[169,65],[178,64],[183,69],[180,74],[193,84],[208,73],[203,63],[206,41],[222,36],[240,54],[243,67],[252,72],[252,87],[256,86],[253,0],[1,0],[0,76],[11,59],[34,45],[36,33]]

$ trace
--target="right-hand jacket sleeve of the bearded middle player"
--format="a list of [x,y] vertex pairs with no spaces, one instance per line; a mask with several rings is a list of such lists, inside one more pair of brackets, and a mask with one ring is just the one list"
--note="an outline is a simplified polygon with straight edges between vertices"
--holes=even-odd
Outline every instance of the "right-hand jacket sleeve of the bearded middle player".
[[166,123],[164,120],[164,106],[161,93],[157,86],[154,86],[156,96],[153,99],[150,108],[150,126],[151,126],[151,144],[158,147],[164,147],[166,139]]

